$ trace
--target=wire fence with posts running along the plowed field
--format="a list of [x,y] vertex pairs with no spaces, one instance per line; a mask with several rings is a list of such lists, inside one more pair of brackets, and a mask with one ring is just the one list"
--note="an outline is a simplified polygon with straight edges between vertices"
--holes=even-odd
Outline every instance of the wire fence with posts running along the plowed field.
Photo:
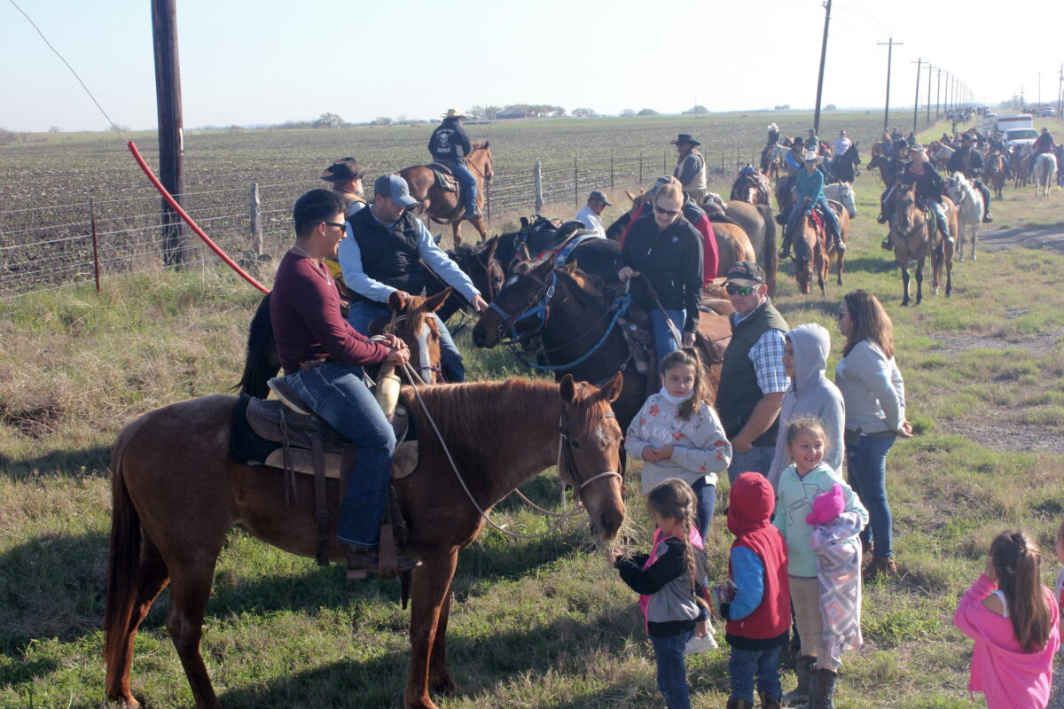
[[[867,150],[879,131],[851,134]],[[830,138],[828,138],[830,139]],[[703,150],[710,191],[727,199],[735,171],[758,165],[763,146]],[[520,216],[537,209],[535,171],[539,170],[541,210],[569,219],[593,189],[645,188],[676,166],[675,150],[615,148],[573,155],[571,161],[496,162],[485,190],[493,233],[514,229]],[[394,166],[379,167],[381,171]],[[292,238],[292,205],[314,180],[243,184],[187,191],[185,209],[221,249],[242,266],[254,266],[262,254],[276,254]],[[124,196],[129,195],[129,196]],[[437,224],[429,224],[433,232]],[[449,229],[449,227],[443,227]],[[470,231],[466,226],[467,234]],[[190,233],[185,268],[214,267],[214,254]],[[446,242],[445,242],[446,243]],[[60,204],[0,209],[0,303],[11,307],[33,293],[86,283],[100,283],[163,268],[160,198],[146,183],[109,199],[77,193]]]

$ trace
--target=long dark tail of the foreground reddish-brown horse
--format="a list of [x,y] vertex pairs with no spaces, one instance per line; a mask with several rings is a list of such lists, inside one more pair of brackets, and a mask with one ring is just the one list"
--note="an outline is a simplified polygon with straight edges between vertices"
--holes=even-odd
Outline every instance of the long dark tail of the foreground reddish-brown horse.
[[106,686],[122,664],[126,628],[136,603],[136,578],[140,565],[140,517],[130,500],[122,460],[137,422],[126,426],[111,449],[111,542],[107,548],[107,596],[103,608],[103,660]]

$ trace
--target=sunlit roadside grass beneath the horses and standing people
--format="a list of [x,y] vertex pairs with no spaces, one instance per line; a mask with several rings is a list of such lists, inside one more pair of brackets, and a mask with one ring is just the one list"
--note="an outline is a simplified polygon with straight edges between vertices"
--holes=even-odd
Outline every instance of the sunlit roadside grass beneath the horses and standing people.
[[[783,273],[777,298],[792,325],[834,333],[843,292],[877,293],[895,322],[917,431],[888,460],[903,573],[866,588],[866,644],[845,658],[837,704],[960,709],[968,706],[970,642],[953,629],[953,608],[1005,527],[1036,536],[1050,577],[1064,457],[957,432],[1002,421],[1064,434],[1064,355],[1053,341],[1064,328],[1064,257],[981,254],[954,265],[951,298],[927,288],[920,306],[901,308],[900,273],[878,246],[878,191],[869,174],[860,179],[845,286],[800,296]],[[1021,223],[1032,200],[1007,188],[998,220]],[[1055,191],[1046,208],[1059,212],[1062,201]],[[0,320],[0,707],[100,706],[107,448],[136,415],[235,382],[256,302],[229,273],[160,272],[110,280],[99,297],[90,288],[31,297]],[[473,350],[468,332],[459,339],[475,378],[526,372],[505,351]],[[830,367],[841,349],[833,339]],[[645,545],[649,521],[633,469],[626,533]],[[556,483],[551,471],[525,490],[555,505]],[[721,485],[718,509],[727,496]],[[547,529],[516,503],[497,514]],[[729,544],[718,518],[708,540],[711,578],[725,575]],[[440,707],[661,706],[635,595],[585,545],[582,524],[536,542],[486,531],[463,553],[454,593],[449,654],[460,691],[436,697]],[[165,630],[166,600],[138,637],[134,692],[150,706],[185,709],[190,692]],[[339,568],[233,533],[203,636],[223,705],[400,706],[408,613],[397,602],[396,584],[348,584]],[[727,648],[691,665],[694,706],[722,706]]]

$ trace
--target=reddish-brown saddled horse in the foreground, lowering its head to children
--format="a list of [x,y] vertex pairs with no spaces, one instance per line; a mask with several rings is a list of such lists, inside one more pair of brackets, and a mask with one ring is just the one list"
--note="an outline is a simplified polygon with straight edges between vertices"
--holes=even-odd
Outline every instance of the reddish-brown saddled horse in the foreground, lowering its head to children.
[[[395,480],[410,525],[410,551],[422,561],[413,575],[410,674],[405,706],[433,709],[430,683],[452,691],[446,632],[459,552],[484,526],[484,516],[518,485],[558,465],[578,491],[593,531],[616,536],[625,519],[621,433],[610,409],[621,378],[600,391],[565,377],[561,384],[510,379],[421,389],[431,424],[406,387],[402,399],[422,432],[417,470]],[[229,455],[236,399],[214,395],[164,406],[129,423],[111,452],[113,518],[107,562],[106,695],[127,707],[137,628],[169,584],[166,626],[192,686],[197,709],[220,709],[200,655],[203,610],[226,533],[239,526],[268,544],[315,555],[314,479],[297,475],[296,501],[285,503],[285,473],[250,468]],[[462,482],[447,462],[446,443]],[[562,453],[565,455],[562,455]],[[335,538],[339,483],[328,480],[332,561],[346,559]],[[477,502],[471,502],[476,500]]]

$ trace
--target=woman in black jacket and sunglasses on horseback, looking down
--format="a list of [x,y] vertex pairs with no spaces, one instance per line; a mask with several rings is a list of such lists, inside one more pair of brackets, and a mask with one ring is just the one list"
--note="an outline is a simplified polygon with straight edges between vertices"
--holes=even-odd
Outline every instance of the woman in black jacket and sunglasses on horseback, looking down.
[[650,318],[659,366],[669,352],[694,344],[698,330],[702,235],[680,214],[683,199],[675,178],[658,189],[653,210],[632,223],[617,272],[621,282],[631,280],[632,298]]

